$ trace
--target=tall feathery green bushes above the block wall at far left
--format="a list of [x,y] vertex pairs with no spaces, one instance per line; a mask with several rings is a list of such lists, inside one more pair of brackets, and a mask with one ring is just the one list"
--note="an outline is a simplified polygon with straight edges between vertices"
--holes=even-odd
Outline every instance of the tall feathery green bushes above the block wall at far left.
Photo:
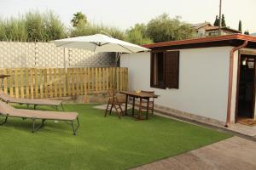
[[25,16],[0,20],[0,41],[50,41],[63,37],[67,37],[66,28],[50,11],[31,11]]

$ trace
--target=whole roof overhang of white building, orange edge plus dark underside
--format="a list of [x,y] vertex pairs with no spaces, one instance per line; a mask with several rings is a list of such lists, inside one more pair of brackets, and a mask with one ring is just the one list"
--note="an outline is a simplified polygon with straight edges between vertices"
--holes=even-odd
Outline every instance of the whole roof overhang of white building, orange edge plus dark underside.
[[256,49],[256,37],[231,34],[218,37],[202,37],[181,41],[172,42],[159,42],[143,45],[144,48],[150,48],[152,50],[172,50],[172,49],[184,49],[184,48],[209,48],[209,47],[224,47],[232,46],[237,47],[244,41],[248,41],[246,48]]

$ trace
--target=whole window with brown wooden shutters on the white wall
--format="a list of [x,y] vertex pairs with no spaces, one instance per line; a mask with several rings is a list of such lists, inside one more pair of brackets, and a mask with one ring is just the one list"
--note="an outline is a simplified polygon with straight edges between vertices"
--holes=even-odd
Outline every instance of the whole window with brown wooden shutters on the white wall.
[[178,88],[179,52],[156,52],[151,54],[152,88]]

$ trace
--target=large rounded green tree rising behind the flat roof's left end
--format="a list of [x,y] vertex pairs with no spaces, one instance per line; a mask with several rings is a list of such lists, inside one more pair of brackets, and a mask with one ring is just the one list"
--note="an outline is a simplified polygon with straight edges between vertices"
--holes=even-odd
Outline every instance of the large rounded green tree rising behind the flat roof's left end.
[[167,42],[193,37],[194,31],[180,17],[171,19],[168,14],[161,14],[149,21],[147,34],[154,42]]

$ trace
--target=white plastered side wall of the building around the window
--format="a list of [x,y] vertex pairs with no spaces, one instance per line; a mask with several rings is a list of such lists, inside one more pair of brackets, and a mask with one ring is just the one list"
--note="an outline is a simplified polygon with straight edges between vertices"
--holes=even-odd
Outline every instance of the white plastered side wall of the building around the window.
[[180,50],[179,89],[150,88],[150,53],[123,54],[131,90],[154,90],[162,105],[225,122],[231,47]]

